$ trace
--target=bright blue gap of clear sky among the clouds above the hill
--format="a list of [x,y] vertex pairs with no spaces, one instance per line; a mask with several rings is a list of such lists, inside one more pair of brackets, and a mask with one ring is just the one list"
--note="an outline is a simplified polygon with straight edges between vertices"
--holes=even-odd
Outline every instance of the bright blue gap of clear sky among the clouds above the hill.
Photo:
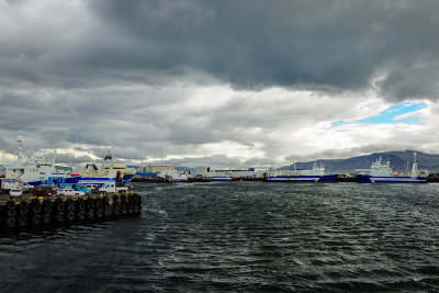
[[427,108],[427,104],[424,102],[403,102],[398,104],[394,104],[389,109],[381,111],[379,115],[370,116],[362,120],[353,120],[353,121],[336,121],[331,123],[331,127],[337,127],[346,124],[356,124],[356,123],[364,123],[364,124],[389,124],[389,123],[404,123],[404,124],[419,124],[418,116],[408,116],[401,117],[402,115],[414,113],[424,108]]

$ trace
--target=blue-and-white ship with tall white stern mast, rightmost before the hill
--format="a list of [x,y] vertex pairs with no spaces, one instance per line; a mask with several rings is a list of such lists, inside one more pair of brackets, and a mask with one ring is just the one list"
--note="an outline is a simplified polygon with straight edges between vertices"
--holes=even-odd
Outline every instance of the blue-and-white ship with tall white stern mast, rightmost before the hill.
[[382,157],[372,162],[370,169],[360,169],[357,178],[361,183],[425,183],[427,177],[421,176],[418,170],[418,161],[416,159],[416,153],[413,154],[414,160],[412,165],[412,172],[398,173],[391,168],[391,164],[387,160],[383,162]]

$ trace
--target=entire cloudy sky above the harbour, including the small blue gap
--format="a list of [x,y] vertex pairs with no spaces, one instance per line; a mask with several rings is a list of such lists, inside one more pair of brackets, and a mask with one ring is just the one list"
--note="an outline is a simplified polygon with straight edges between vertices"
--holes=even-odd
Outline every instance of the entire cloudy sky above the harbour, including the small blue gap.
[[439,154],[439,1],[0,0],[0,154],[269,167]]

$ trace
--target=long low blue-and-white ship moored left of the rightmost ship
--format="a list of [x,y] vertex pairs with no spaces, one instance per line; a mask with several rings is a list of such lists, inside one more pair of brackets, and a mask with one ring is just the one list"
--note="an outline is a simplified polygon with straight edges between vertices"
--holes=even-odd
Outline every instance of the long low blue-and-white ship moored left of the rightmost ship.
[[335,182],[338,174],[325,174],[325,167],[314,162],[313,169],[297,170],[295,164],[292,170],[274,171],[266,182]]

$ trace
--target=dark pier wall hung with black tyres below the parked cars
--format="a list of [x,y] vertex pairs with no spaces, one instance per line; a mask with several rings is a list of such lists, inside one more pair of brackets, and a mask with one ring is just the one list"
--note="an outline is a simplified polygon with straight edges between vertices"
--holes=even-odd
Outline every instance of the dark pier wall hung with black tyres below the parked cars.
[[134,192],[8,200],[0,202],[0,232],[116,219],[140,211],[142,199]]

